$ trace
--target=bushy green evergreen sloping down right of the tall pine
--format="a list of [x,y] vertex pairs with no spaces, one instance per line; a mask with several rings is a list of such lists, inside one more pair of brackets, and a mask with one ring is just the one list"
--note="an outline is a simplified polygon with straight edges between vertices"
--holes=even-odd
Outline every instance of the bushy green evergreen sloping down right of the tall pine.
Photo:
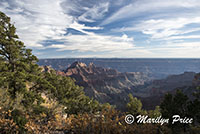
[[66,113],[90,113],[101,110],[102,105],[85,96],[83,88],[75,85],[75,81],[71,78],[56,75],[52,70],[45,74],[45,79],[55,87],[50,89],[51,97],[65,106]]

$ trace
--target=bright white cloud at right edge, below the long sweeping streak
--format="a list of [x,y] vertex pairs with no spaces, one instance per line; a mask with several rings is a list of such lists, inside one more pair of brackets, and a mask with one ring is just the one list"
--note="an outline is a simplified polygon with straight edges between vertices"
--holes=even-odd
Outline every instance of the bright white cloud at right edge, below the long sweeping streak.
[[186,33],[181,28],[192,23],[200,23],[200,18],[152,19],[136,25],[132,30],[142,31],[144,34],[152,35],[153,39],[163,39],[172,35]]

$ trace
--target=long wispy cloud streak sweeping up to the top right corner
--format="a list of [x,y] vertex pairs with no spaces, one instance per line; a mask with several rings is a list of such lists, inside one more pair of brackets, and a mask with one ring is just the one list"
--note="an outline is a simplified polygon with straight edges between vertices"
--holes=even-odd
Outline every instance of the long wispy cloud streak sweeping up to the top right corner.
[[176,12],[176,14],[171,14],[170,10],[177,10],[178,8],[198,9],[199,7],[200,3],[198,0],[138,0],[133,1],[131,4],[120,8],[117,12],[115,12],[113,15],[103,21],[102,25],[106,25],[130,17],[135,17],[142,13],[157,13],[162,14],[161,16],[165,16],[167,13],[170,14],[170,16],[175,15],[175,17],[178,17],[179,15],[185,15],[183,14],[183,11]]

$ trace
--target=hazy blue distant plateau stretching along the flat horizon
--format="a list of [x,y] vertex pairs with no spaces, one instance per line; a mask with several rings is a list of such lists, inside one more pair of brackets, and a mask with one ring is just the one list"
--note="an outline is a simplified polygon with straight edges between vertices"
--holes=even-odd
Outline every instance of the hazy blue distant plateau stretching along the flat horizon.
[[143,72],[155,79],[184,72],[200,72],[200,59],[61,58],[40,59],[38,64],[63,71],[76,61],[86,65],[92,62],[96,66],[116,69],[119,72]]

